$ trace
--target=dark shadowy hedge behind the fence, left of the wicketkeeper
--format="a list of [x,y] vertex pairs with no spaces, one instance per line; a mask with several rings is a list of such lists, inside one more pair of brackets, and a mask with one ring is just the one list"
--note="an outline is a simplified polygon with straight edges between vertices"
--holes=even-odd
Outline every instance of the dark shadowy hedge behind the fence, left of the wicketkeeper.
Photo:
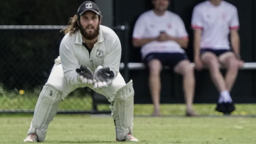
[[[66,25],[84,0],[0,0],[0,25]],[[6,89],[44,85],[59,43],[59,30],[0,30],[0,83]]]

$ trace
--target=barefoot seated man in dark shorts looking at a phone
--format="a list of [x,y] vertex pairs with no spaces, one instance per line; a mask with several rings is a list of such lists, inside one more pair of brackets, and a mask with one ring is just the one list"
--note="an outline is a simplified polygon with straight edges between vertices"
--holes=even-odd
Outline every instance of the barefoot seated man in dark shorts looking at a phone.
[[195,91],[194,68],[185,51],[188,35],[182,19],[168,11],[169,0],[153,0],[154,9],[138,19],[133,32],[133,44],[141,48],[142,59],[149,68],[149,87],[154,104],[153,116],[160,116],[160,73],[164,65],[183,76],[186,115],[197,116],[193,110]]

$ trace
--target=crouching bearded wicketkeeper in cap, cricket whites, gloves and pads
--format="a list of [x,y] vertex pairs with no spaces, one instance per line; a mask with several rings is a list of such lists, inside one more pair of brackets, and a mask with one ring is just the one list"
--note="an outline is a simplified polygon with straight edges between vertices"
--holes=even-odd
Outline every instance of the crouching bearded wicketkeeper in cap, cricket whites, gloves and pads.
[[24,142],[43,142],[59,103],[79,87],[89,87],[111,103],[117,141],[135,141],[132,136],[134,89],[119,73],[121,43],[116,33],[100,25],[95,3],[83,2],[64,29],[58,57],[43,87],[28,136]]

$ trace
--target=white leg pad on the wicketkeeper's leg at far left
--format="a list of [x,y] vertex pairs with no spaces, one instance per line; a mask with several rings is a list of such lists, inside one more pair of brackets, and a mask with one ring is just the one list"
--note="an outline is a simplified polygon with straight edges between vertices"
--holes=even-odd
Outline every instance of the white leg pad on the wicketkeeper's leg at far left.
[[35,105],[34,116],[28,130],[28,135],[35,134],[38,142],[45,140],[48,125],[56,115],[59,102],[62,99],[62,93],[53,85],[48,83],[44,85]]

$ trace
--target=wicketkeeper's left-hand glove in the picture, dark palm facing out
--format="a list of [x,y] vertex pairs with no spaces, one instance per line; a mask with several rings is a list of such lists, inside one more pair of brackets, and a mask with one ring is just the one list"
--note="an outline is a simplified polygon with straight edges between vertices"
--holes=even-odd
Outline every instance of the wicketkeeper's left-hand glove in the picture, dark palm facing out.
[[80,69],[76,69],[76,73],[78,73],[78,77],[83,83],[90,85],[93,84],[93,72],[86,66],[81,65]]

